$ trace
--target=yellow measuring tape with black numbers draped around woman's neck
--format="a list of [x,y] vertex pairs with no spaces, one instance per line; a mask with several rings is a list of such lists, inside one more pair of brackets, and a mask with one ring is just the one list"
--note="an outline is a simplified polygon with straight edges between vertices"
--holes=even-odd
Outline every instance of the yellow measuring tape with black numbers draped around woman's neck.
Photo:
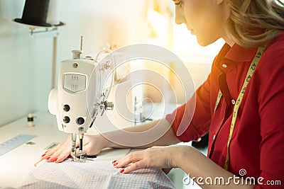
[[[251,79],[251,76],[253,75],[253,72],[256,69],[256,66],[257,66],[259,60],[261,59],[261,56],[262,56],[265,49],[266,49],[266,45],[264,45],[263,47],[258,47],[256,55],[253,58],[253,61],[251,62],[251,66],[249,67],[249,71],[246,74],[246,79],[244,81],[243,87],[241,88],[241,92],[239,93],[239,96],[236,99],[236,104],[234,106],[234,111],[233,111],[233,118],[231,119],[231,127],[230,127],[228,143],[227,143],[227,150],[226,150],[226,161],[225,161],[225,165],[224,165],[224,168],[226,170],[228,170],[228,166],[229,166],[229,146],[230,146],[230,143],[231,143],[231,136],[233,134],[234,126],[235,126],[235,123],[236,123],[236,115],[238,114],[238,110],[239,110],[239,106],[241,104],[241,100],[243,100],[244,92],[246,91],[246,86],[249,84],[249,80]],[[221,98],[222,98],[222,93],[221,93],[221,91],[219,91],[214,111],[217,109],[217,106],[218,106]]]

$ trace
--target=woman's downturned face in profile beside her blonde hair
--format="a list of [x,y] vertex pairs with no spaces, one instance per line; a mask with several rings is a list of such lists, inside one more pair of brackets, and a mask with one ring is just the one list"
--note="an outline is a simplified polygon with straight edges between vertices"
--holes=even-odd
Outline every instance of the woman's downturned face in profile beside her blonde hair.
[[185,23],[187,29],[197,36],[202,46],[219,38],[226,40],[225,22],[229,6],[224,0],[173,0],[175,23]]

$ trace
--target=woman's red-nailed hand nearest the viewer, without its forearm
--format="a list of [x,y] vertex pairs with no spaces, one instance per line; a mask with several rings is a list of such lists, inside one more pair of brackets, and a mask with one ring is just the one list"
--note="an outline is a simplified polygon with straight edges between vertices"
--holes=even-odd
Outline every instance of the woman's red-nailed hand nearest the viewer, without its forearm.
[[[169,169],[178,167],[178,158],[180,153],[185,151],[187,146],[170,146],[170,147],[151,147],[143,151],[135,151],[127,154],[123,158],[113,161],[116,168],[121,169],[121,173],[129,173],[139,168],[158,167]],[[132,164],[131,164],[132,163]]]

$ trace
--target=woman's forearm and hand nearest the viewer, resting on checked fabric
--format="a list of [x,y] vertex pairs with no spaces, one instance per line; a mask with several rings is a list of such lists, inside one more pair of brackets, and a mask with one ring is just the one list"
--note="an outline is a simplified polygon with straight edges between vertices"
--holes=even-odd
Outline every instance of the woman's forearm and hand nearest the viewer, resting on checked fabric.
[[122,168],[121,173],[149,167],[181,168],[202,188],[253,188],[253,185],[241,181],[241,178],[224,170],[197,149],[184,145],[136,151],[113,161],[113,164],[116,168]]

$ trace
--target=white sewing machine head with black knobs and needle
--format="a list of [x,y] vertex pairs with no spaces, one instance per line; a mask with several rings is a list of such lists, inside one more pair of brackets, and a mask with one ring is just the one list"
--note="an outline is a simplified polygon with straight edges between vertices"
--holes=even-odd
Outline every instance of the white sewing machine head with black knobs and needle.
[[97,62],[97,58],[82,58],[82,50],[73,50],[73,59],[60,62],[58,88],[53,88],[48,97],[48,110],[56,115],[58,129],[72,134],[71,156],[77,162],[85,159],[82,154],[84,133],[92,127],[98,114],[114,108],[113,103],[107,102],[114,81],[114,58],[110,50],[105,51],[110,53],[109,58]]

